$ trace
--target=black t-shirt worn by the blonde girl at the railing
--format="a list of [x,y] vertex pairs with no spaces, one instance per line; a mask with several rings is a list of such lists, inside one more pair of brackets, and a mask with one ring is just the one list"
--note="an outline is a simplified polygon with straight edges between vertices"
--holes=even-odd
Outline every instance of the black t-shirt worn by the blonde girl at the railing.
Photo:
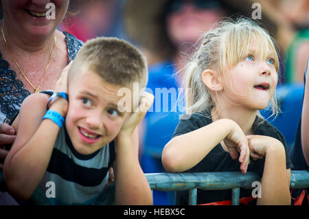
[[[207,126],[212,123],[212,119],[209,117],[207,111],[193,113],[189,116],[185,115],[186,119],[180,119],[179,124],[176,127],[173,137],[192,132],[203,126]],[[264,121],[260,117],[256,117],[253,123],[254,135],[266,135],[274,137],[282,142],[284,150],[286,151],[286,169],[293,168],[293,164],[290,161],[290,155],[286,146],[286,140],[277,128],[271,125],[269,122]],[[190,145],[188,145],[190,147]],[[239,154],[238,154],[239,156]],[[251,159],[251,163],[248,165],[247,172],[258,172],[259,176],[262,177],[264,170],[265,159]],[[207,154],[207,156],[195,165],[190,170],[185,172],[239,172],[240,163],[238,159],[231,159],[229,152],[223,150],[220,143]],[[254,187],[253,187],[254,189]],[[240,198],[251,196],[250,189],[240,189]],[[216,191],[205,191],[197,189],[197,204],[213,203],[222,200],[231,200],[231,189],[228,190],[216,190]],[[188,191],[176,192],[176,204],[187,205],[188,204]]]

